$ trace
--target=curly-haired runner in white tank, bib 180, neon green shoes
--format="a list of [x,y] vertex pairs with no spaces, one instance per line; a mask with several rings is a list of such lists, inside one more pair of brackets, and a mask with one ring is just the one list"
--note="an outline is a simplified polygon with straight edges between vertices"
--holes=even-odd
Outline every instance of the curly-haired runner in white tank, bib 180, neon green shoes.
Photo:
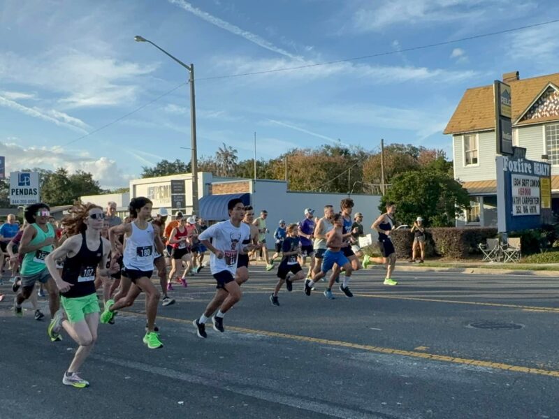
[[[159,227],[147,222],[152,214],[152,201],[141,196],[130,201],[130,214],[136,220],[129,224],[121,224],[110,228],[109,237],[112,244],[112,253],[117,255],[118,248],[115,243],[117,235],[124,234],[123,275],[132,281],[133,285],[126,297],[114,302],[109,300],[101,314],[101,323],[108,323],[115,315],[115,311],[130,307],[138,295],[143,291],[146,299],[147,331],[143,342],[150,349],[162,348],[163,344],[154,331],[157,305],[161,294],[151,281],[153,274],[154,250],[163,253],[164,244],[161,242]],[[155,247],[155,249],[154,249]]]

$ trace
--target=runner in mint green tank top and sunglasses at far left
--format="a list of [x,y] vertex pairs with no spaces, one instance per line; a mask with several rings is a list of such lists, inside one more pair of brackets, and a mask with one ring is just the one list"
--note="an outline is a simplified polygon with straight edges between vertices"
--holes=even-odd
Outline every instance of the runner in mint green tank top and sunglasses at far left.
[[[23,256],[20,268],[22,286],[14,299],[16,316],[23,315],[21,304],[33,293],[36,281],[47,287],[52,320],[60,308],[57,285],[45,265],[45,258],[52,251],[53,244],[56,244],[55,230],[47,222],[48,216],[50,216],[50,207],[44,203],[29,205],[24,210],[24,218],[29,226],[23,231],[20,242],[19,253]],[[52,320],[48,327],[48,335],[51,341],[59,341],[61,340],[59,334],[52,330]]]

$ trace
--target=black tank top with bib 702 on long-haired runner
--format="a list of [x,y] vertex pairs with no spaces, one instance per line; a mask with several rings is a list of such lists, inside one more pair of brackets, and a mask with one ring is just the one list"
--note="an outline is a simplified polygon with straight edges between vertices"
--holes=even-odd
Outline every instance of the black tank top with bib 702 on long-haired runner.
[[85,232],[82,233],[82,247],[73,258],[66,257],[62,279],[73,286],[70,291],[61,293],[66,298],[85,297],[95,293],[95,274],[97,265],[103,258],[103,239],[99,237],[99,249],[89,250]]

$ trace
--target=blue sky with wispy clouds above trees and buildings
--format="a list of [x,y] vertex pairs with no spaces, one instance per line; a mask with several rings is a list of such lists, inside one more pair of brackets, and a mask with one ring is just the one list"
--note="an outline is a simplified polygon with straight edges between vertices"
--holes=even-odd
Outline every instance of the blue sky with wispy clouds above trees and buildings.
[[189,161],[189,73],[140,35],[194,63],[198,156],[252,159],[256,132],[258,159],[381,138],[451,159],[465,89],[557,73],[559,22],[402,50],[558,18],[556,0],[2,0],[0,156],[104,188]]

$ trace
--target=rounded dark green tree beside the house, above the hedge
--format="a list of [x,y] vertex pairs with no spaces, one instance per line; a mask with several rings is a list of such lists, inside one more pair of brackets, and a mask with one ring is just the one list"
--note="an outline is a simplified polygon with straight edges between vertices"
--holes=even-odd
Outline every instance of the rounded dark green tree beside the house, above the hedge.
[[462,185],[448,172],[422,168],[397,175],[391,188],[381,199],[379,210],[386,203],[397,205],[398,221],[412,225],[422,216],[427,226],[450,227],[457,216],[470,207],[470,197]]

